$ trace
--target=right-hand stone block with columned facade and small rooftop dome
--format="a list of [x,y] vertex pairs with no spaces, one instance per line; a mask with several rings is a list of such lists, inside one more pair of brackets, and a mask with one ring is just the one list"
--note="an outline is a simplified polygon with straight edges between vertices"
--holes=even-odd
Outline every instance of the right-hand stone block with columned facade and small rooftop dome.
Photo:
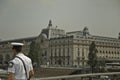
[[120,39],[94,36],[87,27],[83,31],[67,32],[66,36],[50,39],[50,63],[53,66],[86,66],[89,45],[95,42],[98,59],[120,62]]

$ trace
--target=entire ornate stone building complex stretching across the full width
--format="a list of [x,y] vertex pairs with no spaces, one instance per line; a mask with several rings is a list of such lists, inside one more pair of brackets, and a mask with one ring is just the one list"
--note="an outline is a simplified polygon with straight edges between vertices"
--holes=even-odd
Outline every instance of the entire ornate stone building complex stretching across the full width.
[[65,33],[64,30],[53,27],[49,21],[48,27],[39,36],[0,42],[1,63],[8,61],[11,56],[11,42],[23,42],[23,51],[28,55],[30,43],[39,41],[43,48],[43,64],[50,66],[86,66],[89,45],[95,42],[99,59],[120,62],[120,33],[118,38],[91,35],[88,28],[82,31]]

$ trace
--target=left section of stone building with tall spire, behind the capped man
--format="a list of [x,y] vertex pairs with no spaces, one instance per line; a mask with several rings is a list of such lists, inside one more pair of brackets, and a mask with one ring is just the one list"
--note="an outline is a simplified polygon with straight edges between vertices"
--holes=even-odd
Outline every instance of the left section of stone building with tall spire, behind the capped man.
[[22,42],[25,45],[23,46],[23,52],[28,55],[30,44],[32,41],[39,42],[42,51],[43,51],[43,64],[47,64],[48,57],[47,54],[49,53],[49,40],[50,38],[61,37],[65,35],[65,31],[62,29],[58,29],[57,26],[52,26],[52,21],[49,21],[47,28],[44,28],[40,35],[35,37],[29,38],[21,38],[21,39],[14,39],[14,40],[7,40],[7,41],[0,41],[0,63],[4,64],[8,62],[12,58],[12,49],[11,49],[11,42]]

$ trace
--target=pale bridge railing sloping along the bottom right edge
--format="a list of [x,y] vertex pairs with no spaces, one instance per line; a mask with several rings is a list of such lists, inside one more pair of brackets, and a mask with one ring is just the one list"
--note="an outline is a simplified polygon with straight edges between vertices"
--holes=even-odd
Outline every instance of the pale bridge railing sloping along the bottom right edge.
[[[114,75],[119,75],[120,72],[108,72],[108,73],[90,73],[90,74],[78,74],[78,75],[67,75],[67,76],[56,76],[56,77],[47,77],[47,78],[33,78],[31,80],[84,80],[83,78],[86,78],[85,80],[88,80],[89,78],[94,78],[98,76],[112,76],[111,78],[114,80],[120,80],[116,79],[116,77],[113,77]],[[95,80],[101,80],[100,77]],[[111,80],[111,79],[106,79]]]

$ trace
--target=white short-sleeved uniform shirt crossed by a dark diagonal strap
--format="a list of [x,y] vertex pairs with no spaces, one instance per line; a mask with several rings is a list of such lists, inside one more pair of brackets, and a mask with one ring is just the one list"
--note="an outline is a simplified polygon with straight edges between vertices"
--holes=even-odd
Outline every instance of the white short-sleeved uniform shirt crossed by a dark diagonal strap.
[[[33,70],[31,59],[23,53],[18,53],[16,56],[20,57],[24,61],[28,74],[27,77],[29,77],[29,71]],[[24,65],[17,57],[9,62],[8,72],[15,74],[15,80],[26,80]]]

